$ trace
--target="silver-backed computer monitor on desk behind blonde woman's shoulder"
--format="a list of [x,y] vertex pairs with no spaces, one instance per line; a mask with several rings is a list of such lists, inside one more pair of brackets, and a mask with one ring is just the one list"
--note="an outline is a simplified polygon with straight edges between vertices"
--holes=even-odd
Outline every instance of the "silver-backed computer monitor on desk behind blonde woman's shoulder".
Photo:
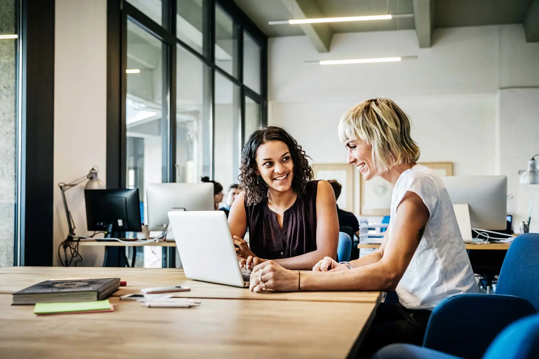
[[472,228],[506,229],[506,176],[448,176],[441,180],[451,202],[468,203]]

